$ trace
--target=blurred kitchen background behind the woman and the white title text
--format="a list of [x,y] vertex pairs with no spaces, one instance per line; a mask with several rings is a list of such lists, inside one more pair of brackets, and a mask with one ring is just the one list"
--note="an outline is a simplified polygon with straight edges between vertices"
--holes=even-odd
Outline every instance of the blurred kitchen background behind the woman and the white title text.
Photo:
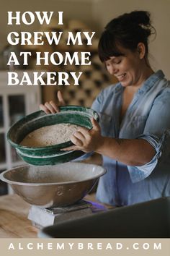
[[[151,12],[153,26],[156,28],[156,39],[150,42],[149,59],[154,70],[162,69],[166,77],[170,78],[169,70],[169,43],[170,43],[170,0],[9,0],[1,2],[0,8],[0,171],[6,168],[12,168],[22,164],[17,153],[9,146],[6,140],[6,134],[9,127],[14,122],[21,119],[26,114],[37,111],[40,103],[45,101],[56,100],[58,90],[63,92],[63,96],[68,105],[91,106],[94,98],[99,94],[102,88],[116,82],[114,77],[109,77],[105,67],[100,63],[97,54],[97,43],[104,26],[125,12],[133,10],[148,10]],[[63,12],[63,26],[58,26],[58,20],[53,19],[50,25],[40,26],[35,20],[34,24],[28,25],[7,25],[7,12],[35,12],[35,11],[53,11],[56,14]],[[63,31],[63,35],[67,35],[68,31],[95,31],[92,46],[64,46],[64,42],[58,46],[49,46],[45,43],[43,46],[9,46],[6,36],[11,31]],[[64,40],[64,39],[63,39]],[[66,40],[66,38],[65,38]],[[66,43],[66,41],[65,41]],[[16,54],[19,51],[31,51],[35,56],[35,51],[90,51],[90,66],[53,66],[36,67],[35,58],[32,57],[27,69],[20,65],[19,67],[6,66],[6,60],[11,51]],[[83,72],[79,86],[73,85],[73,81],[69,81],[68,86],[7,86],[8,69],[17,70],[22,77],[23,69],[32,77],[32,71],[53,71],[53,72]],[[33,79],[33,78],[32,78]],[[6,194],[6,184],[1,183],[0,195]]]

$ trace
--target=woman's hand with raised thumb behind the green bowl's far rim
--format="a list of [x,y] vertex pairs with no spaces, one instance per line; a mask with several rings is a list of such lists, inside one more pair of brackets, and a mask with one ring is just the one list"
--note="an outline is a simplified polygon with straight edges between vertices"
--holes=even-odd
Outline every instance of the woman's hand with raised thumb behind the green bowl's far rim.
[[40,110],[44,111],[46,114],[55,114],[59,112],[59,106],[66,106],[65,101],[63,100],[63,95],[61,91],[58,90],[57,93],[59,104],[56,105],[53,101],[45,102],[45,104],[40,104]]

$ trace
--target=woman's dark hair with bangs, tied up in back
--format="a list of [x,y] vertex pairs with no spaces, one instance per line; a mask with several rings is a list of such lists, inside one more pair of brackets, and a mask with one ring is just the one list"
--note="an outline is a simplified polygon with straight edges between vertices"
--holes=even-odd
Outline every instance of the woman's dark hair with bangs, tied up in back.
[[134,11],[111,20],[99,40],[99,59],[107,61],[111,56],[124,55],[120,47],[136,51],[138,43],[144,43],[148,55],[148,37],[156,35],[151,25],[150,13]]

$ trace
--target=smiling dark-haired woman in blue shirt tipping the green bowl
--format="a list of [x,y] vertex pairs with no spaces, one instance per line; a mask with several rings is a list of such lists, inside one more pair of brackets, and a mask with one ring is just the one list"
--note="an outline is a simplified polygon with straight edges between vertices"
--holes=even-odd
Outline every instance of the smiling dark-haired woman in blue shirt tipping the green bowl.
[[[107,174],[97,199],[131,205],[170,195],[170,82],[148,61],[148,38],[155,33],[150,14],[135,11],[115,18],[99,40],[99,58],[116,85],[102,90],[91,108],[100,115],[93,129],[81,128],[66,150],[97,152]],[[58,93],[61,105],[64,104]],[[40,108],[58,111],[53,102]]]

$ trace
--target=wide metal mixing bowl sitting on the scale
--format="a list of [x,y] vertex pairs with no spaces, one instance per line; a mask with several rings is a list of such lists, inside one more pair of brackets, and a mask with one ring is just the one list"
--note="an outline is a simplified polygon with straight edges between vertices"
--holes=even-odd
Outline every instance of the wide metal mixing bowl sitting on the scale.
[[88,163],[27,165],[2,172],[0,179],[31,205],[49,208],[81,200],[105,172],[102,166]]

